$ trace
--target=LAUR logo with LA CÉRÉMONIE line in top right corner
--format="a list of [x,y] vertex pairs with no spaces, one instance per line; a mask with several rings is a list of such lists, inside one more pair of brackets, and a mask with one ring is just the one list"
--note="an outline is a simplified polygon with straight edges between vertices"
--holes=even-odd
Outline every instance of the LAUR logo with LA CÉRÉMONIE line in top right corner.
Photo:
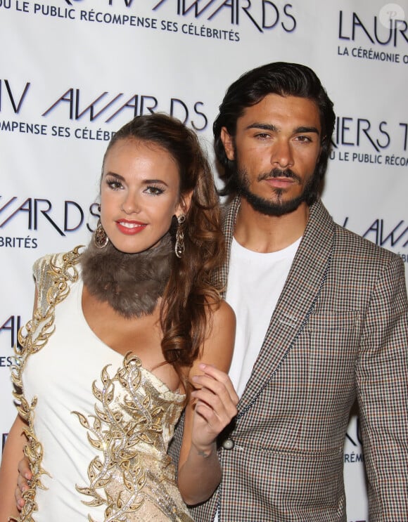
[[371,15],[339,11],[339,56],[408,65],[408,23],[400,4]]

